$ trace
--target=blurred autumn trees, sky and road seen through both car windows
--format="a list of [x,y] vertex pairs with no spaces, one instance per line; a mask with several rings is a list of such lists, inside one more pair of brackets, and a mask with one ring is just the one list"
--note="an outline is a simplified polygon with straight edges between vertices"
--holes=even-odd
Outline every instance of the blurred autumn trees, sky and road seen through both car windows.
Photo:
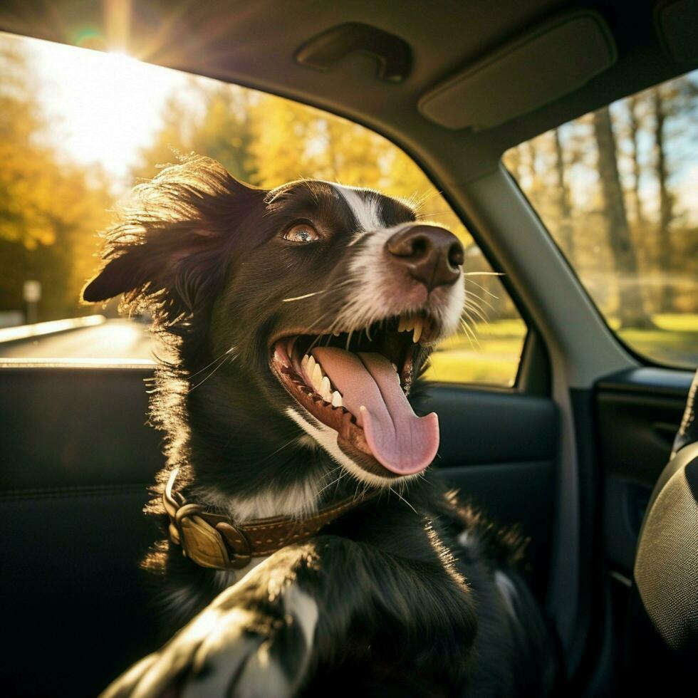
[[[147,318],[80,305],[80,288],[130,187],[196,152],[261,187],[317,177],[417,202],[467,249],[464,328],[430,376],[513,385],[526,325],[443,197],[384,138],[118,53],[0,33],[0,71],[0,357],[151,360]],[[693,74],[504,156],[610,325],[673,365],[698,363],[697,136]]]

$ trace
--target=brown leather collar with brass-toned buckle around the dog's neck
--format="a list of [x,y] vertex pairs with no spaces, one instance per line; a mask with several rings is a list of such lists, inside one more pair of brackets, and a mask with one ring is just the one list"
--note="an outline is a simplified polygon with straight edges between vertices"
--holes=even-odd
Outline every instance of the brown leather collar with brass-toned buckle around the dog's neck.
[[343,499],[300,521],[274,516],[235,524],[199,504],[187,504],[181,494],[173,491],[178,473],[177,469],[172,471],[162,493],[162,504],[170,516],[170,540],[182,546],[184,556],[197,565],[218,570],[240,569],[252,558],[271,555],[290,543],[307,541],[330,521],[377,494]]

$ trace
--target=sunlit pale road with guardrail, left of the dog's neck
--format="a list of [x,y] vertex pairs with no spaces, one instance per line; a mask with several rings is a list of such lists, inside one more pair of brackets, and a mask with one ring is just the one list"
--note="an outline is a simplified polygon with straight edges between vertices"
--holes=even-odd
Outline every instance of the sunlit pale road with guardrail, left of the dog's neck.
[[152,345],[145,323],[108,320],[94,327],[0,343],[0,358],[152,360]]

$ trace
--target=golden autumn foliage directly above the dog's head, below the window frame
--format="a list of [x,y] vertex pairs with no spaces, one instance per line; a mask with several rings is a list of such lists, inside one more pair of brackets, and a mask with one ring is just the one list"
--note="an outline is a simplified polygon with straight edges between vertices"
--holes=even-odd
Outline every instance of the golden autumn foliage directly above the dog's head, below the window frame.
[[[177,153],[219,160],[239,179],[272,189],[303,177],[369,187],[417,202],[423,219],[443,225],[464,244],[472,238],[415,162],[365,127],[306,105],[235,85],[192,78],[192,95],[174,97],[164,125],[142,152],[138,177]],[[194,107],[194,103],[196,106]]]

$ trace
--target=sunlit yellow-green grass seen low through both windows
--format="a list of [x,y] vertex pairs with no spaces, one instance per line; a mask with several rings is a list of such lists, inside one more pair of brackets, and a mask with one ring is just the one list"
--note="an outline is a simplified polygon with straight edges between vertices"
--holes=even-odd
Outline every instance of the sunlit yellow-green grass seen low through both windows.
[[[618,330],[618,321],[609,325],[618,336],[651,361],[678,368],[698,365],[698,314],[660,313],[652,316],[657,329]],[[519,370],[526,337],[521,320],[499,320],[475,325],[476,340],[465,333],[442,343],[432,354],[428,380],[448,383],[476,383],[511,386]]]

